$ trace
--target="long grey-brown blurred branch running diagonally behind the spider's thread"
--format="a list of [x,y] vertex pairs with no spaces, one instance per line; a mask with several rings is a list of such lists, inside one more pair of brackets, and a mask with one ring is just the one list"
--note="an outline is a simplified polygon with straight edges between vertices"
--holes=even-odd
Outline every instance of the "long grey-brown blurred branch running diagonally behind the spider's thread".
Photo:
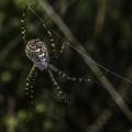
[[[97,76],[97,78],[102,84],[102,86],[106,88],[106,90],[108,90],[111,98],[119,106],[122,112],[132,122],[132,111],[130,110],[130,108],[123,101],[122,97],[114,90],[114,87],[112,86],[112,84],[106,78],[106,76],[101,73],[99,67],[94,63],[94,59],[86,52],[86,50],[81,46],[78,40],[74,36],[74,34],[67,28],[67,25],[63,22],[59,15],[54,11],[54,9],[48,4],[47,1],[40,0],[38,3],[42,7],[42,9],[50,15],[50,18],[57,24],[57,26],[62,30],[65,36],[69,40],[69,42],[74,44],[74,47],[79,50],[82,54],[87,55],[87,58],[81,55],[82,59],[86,62],[88,67],[94,72],[94,74]],[[100,75],[102,76],[100,77]]]

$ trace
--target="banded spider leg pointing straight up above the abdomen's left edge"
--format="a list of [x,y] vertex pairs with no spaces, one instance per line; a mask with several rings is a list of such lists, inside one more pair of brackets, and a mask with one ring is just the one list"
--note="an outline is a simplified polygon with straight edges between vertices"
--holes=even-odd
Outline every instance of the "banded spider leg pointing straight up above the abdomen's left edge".
[[23,41],[23,44],[26,44],[26,37],[25,37],[25,12],[26,12],[26,8],[23,10],[23,13],[22,13],[22,19],[21,19],[21,34],[22,34],[22,41]]

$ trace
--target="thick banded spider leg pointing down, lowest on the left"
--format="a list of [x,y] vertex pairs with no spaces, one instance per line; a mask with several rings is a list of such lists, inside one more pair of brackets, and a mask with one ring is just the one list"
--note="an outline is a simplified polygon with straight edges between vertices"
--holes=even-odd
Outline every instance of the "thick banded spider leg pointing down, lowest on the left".
[[32,106],[34,105],[34,81],[36,75],[37,75],[37,67],[33,65],[26,78],[26,87],[25,87],[25,94],[26,96],[30,96],[30,101]]

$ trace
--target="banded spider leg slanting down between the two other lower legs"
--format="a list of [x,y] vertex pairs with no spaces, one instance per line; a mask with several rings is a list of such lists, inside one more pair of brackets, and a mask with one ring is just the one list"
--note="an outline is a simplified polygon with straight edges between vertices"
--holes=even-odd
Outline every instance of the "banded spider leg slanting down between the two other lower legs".
[[53,82],[53,85],[55,87],[56,95],[58,97],[61,97],[61,99],[63,100],[63,102],[68,103],[69,100],[67,100],[66,95],[63,94],[63,91],[62,91],[61,87],[58,86],[57,81],[55,80],[52,72],[50,69],[47,69],[47,70],[48,70],[51,80],[52,80],[52,82]]

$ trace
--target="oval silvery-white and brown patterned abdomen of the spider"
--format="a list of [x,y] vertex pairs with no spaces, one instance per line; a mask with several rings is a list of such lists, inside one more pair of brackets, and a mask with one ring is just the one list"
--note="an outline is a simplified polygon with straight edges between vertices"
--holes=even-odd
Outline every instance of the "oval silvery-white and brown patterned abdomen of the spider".
[[25,46],[26,56],[34,63],[38,69],[44,70],[48,66],[48,51],[46,44],[40,38],[31,40]]

